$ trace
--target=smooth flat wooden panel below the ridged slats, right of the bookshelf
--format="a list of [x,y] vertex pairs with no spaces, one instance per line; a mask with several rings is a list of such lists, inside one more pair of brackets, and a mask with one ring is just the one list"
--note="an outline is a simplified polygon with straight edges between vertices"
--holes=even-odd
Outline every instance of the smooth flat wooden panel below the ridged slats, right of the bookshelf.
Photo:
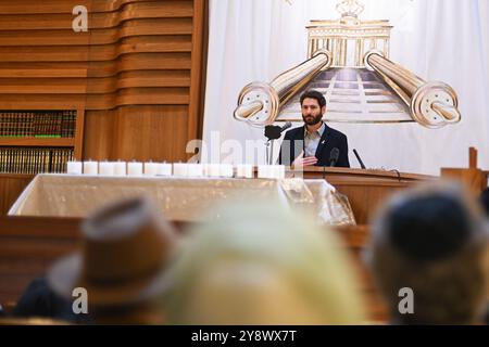
[[[87,159],[179,160],[187,139],[188,106],[134,105],[91,111],[86,117]],[[149,130],[151,129],[151,130]]]

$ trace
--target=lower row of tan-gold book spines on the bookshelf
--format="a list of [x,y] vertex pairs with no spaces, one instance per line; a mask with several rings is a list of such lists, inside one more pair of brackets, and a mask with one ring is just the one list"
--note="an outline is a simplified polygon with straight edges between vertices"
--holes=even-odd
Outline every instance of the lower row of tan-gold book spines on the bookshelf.
[[73,160],[73,149],[0,147],[0,172],[66,172],[66,163]]

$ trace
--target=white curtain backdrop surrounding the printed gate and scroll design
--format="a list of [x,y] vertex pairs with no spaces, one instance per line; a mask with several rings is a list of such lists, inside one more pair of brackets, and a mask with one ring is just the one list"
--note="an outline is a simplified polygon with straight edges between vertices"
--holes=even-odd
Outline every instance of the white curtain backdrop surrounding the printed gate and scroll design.
[[[430,130],[405,125],[329,124],[349,139],[369,168],[439,175],[441,167],[467,167],[468,147],[489,168],[488,0],[361,0],[363,20],[390,20],[390,57],[425,80],[441,80],[459,94],[462,121]],[[233,118],[240,90],[271,81],[306,57],[305,26],[335,20],[337,0],[211,0],[203,162],[264,160],[238,153],[263,130]],[[229,141],[230,140],[230,141]],[[225,147],[218,149],[226,142]],[[235,150],[235,151],[233,151]],[[275,155],[278,154],[275,152]]]

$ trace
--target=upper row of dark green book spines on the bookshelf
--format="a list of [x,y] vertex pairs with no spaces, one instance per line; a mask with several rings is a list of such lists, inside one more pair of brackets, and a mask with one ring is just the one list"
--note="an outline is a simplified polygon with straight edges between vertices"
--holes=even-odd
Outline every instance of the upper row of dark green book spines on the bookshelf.
[[0,111],[0,137],[74,138],[76,111]]

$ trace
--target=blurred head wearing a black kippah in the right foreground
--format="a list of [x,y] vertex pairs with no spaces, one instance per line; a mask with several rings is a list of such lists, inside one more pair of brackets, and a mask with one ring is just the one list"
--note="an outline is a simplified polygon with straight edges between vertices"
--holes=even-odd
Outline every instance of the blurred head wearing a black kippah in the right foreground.
[[[488,236],[477,201],[454,183],[396,195],[374,221],[365,253],[392,323],[477,323],[487,298]],[[413,312],[401,312],[402,288],[412,290]]]

